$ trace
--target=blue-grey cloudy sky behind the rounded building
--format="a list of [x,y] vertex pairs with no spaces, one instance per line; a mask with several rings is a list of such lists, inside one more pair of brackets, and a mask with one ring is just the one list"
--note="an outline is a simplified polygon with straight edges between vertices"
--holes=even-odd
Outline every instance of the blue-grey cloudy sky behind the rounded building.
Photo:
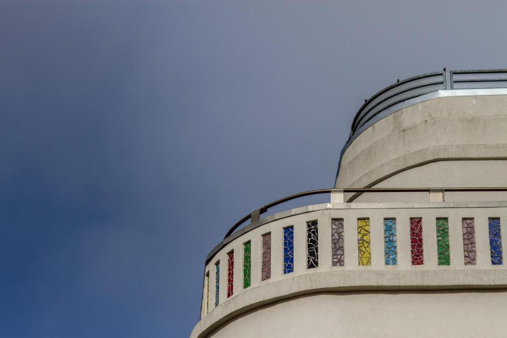
[[506,28],[504,1],[0,0],[0,337],[189,336],[232,224],[332,187],[396,79],[507,68]]

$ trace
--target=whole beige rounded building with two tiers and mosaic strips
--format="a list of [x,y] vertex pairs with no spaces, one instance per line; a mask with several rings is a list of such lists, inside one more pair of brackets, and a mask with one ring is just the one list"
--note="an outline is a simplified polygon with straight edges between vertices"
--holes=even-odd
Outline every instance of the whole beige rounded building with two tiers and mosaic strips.
[[504,335],[505,187],[507,70],[399,81],[358,110],[335,189],[209,253],[192,337]]

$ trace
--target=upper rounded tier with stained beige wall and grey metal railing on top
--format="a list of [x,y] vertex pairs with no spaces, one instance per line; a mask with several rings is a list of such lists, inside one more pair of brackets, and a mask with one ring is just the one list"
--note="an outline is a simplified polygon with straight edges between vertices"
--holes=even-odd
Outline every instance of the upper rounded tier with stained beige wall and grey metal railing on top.
[[[403,80],[358,110],[335,187],[507,186],[507,70],[459,70]],[[493,196],[494,195],[494,196]],[[505,194],[449,200],[504,200]],[[346,202],[422,202],[408,193]]]

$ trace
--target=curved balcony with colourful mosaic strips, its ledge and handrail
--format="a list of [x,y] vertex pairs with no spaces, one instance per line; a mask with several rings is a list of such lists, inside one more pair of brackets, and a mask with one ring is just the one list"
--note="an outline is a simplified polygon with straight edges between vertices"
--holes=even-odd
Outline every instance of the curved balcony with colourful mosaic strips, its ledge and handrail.
[[[236,223],[206,258],[201,321],[192,336],[303,294],[507,286],[501,241],[507,202],[445,202],[447,189],[406,190],[427,202],[343,203],[345,193],[402,191],[330,189],[289,196],[245,216],[240,222],[250,223]],[[274,205],[311,194],[330,194],[330,203],[260,218]]]

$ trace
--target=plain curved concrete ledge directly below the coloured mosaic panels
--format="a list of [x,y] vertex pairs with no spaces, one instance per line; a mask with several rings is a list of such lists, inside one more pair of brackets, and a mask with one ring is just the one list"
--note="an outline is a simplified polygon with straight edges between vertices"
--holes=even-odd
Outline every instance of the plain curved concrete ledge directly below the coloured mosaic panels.
[[204,337],[247,311],[281,299],[330,291],[450,290],[507,288],[507,270],[364,270],[294,276],[261,284],[212,310],[194,327],[191,337]]

